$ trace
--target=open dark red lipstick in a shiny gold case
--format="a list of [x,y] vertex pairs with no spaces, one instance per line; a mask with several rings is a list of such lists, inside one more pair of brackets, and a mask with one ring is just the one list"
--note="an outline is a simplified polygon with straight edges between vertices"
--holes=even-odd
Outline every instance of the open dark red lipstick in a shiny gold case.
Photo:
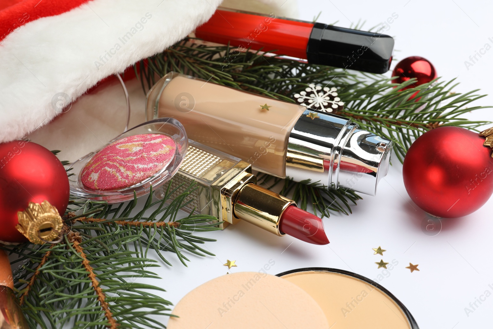
[[[293,200],[257,185],[250,164],[189,140],[170,188],[179,193],[193,181],[198,188],[187,196],[184,202],[189,203],[182,209],[214,216],[222,222],[221,228],[243,219],[278,236],[288,234],[316,245],[329,243],[322,220],[297,208]],[[161,187],[156,195],[164,192]]]

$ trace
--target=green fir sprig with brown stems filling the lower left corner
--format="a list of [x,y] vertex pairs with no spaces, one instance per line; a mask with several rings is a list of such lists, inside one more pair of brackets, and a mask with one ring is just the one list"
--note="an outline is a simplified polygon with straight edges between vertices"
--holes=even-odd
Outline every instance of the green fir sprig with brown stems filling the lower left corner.
[[219,229],[211,216],[178,219],[197,187],[178,194],[169,186],[139,207],[136,197],[116,205],[70,200],[62,242],[1,247],[18,256],[15,289],[32,328],[166,328],[156,318],[170,315],[171,302],[159,296],[165,290],[143,283],[160,279],[149,252],[172,266],[171,252],[186,266],[188,255],[214,256],[201,245],[215,240],[197,234]]

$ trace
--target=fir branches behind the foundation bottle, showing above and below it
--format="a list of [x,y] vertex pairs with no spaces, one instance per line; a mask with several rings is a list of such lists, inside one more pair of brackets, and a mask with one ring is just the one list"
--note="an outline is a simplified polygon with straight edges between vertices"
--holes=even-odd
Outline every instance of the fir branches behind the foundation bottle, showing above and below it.
[[[146,92],[157,77],[171,71],[286,102],[294,102],[293,95],[311,83],[337,87],[345,107],[335,114],[350,117],[361,129],[393,141],[393,150],[401,162],[412,142],[430,129],[453,125],[475,130],[488,123],[462,117],[468,111],[485,108],[469,107],[484,95],[476,95],[477,90],[455,93],[455,80],[434,81],[402,90],[415,80],[394,84],[391,78],[380,74],[310,65],[264,56],[259,51],[231,52],[231,49],[201,45],[192,38],[180,41],[139,63],[142,88]],[[269,184],[276,181],[274,177],[263,179]],[[361,199],[352,191],[327,189],[320,182],[277,183],[290,186],[283,188],[282,193],[292,192],[303,209],[312,204],[315,212],[327,217],[332,211],[351,213],[350,204]]]

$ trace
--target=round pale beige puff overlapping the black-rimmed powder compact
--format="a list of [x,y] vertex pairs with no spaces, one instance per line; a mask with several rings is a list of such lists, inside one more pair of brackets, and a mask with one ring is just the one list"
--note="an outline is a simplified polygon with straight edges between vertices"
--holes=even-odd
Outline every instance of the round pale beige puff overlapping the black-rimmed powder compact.
[[329,328],[317,302],[288,280],[258,272],[227,274],[186,294],[168,329]]

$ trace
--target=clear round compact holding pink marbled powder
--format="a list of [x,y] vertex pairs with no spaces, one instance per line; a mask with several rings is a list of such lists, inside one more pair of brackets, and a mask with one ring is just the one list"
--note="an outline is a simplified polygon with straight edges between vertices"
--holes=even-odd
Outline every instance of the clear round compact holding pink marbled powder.
[[187,147],[185,129],[176,119],[144,122],[73,162],[70,193],[108,203],[145,195],[175,175]]

